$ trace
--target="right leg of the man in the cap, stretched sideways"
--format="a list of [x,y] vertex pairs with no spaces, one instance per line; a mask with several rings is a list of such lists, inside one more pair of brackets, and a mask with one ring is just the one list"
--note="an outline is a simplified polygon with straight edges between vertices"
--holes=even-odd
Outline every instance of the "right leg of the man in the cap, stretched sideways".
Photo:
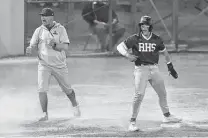
[[56,78],[59,86],[61,87],[62,91],[66,93],[67,97],[71,101],[71,104],[74,108],[74,115],[75,116],[80,116],[81,112],[79,109],[79,104],[76,99],[76,95],[74,90],[71,88],[71,85],[69,84],[69,74],[68,74],[68,69],[54,69],[52,72],[52,75]]

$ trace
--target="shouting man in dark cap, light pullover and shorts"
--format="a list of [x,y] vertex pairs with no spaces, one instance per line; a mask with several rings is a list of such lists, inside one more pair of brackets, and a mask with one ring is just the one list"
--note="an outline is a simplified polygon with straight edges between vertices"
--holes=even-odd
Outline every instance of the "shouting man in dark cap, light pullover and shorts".
[[38,27],[27,47],[26,53],[32,54],[34,49],[38,50],[38,92],[43,116],[39,121],[48,120],[48,98],[49,82],[53,76],[62,91],[74,107],[74,115],[80,116],[80,109],[76,100],[75,92],[71,88],[68,79],[68,67],[66,53],[69,47],[69,39],[64,26],[54,21],[54,11],[44,8],[41,15],[42,25]]

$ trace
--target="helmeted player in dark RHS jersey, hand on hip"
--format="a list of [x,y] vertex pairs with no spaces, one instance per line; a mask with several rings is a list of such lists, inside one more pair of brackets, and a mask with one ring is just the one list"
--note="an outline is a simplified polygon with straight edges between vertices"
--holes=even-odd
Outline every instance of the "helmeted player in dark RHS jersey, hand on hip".
[[136,126],[136,118],[145,95],[148,81],[158,94],[159,105],[164,115],[163,122],[175,123],[181,121],[180,118],[175,117],[169,111],[164,80],[158,69],[159,52],[163,52],[170,74],[175,79],[178,78],[178,74],[173,67],[169,53],[163,44],[163,40],[152,32],[153,26],[150,16],[142,16],[138,26],[139,33],[128,37],[117,46],[117,50],[120,54],[135,63],[135,95],[130,125],[128,128],[129,131],[139,130]]

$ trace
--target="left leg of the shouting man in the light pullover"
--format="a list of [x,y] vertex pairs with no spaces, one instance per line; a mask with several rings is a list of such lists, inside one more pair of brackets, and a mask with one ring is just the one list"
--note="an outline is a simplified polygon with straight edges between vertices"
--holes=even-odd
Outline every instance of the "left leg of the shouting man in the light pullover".
[[40,105],[43,111],[43,116],[40,118],[39,121],[46,121],[48,120],[48,97],[47,92],[49,90],[49,81],[51,78],[50,70],[46,68],[38,70],[38,92],[39,92],[39,100]]

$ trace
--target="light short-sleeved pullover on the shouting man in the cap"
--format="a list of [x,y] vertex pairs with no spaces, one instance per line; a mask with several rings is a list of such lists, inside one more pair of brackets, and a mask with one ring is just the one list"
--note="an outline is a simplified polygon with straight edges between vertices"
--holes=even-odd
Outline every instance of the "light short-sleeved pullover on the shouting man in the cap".
[[31,47],[38,48],[39,64],[64,68],[66,67],[66,53],[65,51],[55,51],[49,46],[51,39],[55,39],[56,43],[70,43],[64,26],[60,23],[54,22],[55,25],[49,31],[45,26],[38,27],[30,41]]

